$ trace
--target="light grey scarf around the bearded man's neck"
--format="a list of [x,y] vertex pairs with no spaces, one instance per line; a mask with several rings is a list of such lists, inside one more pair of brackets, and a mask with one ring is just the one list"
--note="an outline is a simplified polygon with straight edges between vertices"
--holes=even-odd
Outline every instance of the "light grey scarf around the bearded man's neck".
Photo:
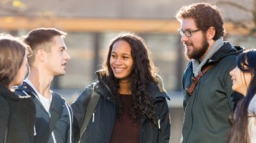
[[193,73],[195,74],[195,77],[201,71],[202,65],[205,65],[207,60],[212,58],[212,55],[215,54],[215,52],[217,52],[220,49],[220,47],[222,47],[223,45],[224,45],[224,41],[223,41],[223,38],[221,37],[217,39],[217,41],[215,41],[215,43],[212,45],[212,48],[210,48],[210,51],[208,51],[207,55],[205,55],[205,58],[202,60],[201,63],[198,59],[197,60],[192,59]]

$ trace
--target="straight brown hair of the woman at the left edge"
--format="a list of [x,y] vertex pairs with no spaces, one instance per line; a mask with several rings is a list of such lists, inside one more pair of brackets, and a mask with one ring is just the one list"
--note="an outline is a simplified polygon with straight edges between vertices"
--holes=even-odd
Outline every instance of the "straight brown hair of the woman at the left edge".
[[0,34],[0,83],[8,87],[16,77],[24,56],[30,55],[31,49],[24,41],[8,34]]

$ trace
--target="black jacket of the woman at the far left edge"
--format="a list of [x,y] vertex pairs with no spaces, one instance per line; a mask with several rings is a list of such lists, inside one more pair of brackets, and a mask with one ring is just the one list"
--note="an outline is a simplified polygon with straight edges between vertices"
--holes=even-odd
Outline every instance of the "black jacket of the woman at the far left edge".
[[0,142],[33,142],[35,114],[31,97],[19,97],[0,85]]

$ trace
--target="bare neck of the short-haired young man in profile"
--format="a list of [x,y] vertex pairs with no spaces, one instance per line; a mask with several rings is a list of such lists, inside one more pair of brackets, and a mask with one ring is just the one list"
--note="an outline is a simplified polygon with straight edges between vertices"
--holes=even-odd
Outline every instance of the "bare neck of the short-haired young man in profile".
[[51,80],[53,80],[54,76],[46,74],[44,72],[39,73],[39,71],[44,71],[44,70],[37,70],[36,68],[31,68],[29,73],[29,80],[34,85],[34,88],[36,88],[36,90],[41,95],[50,99],[51,98],[50,85],[51,85]]

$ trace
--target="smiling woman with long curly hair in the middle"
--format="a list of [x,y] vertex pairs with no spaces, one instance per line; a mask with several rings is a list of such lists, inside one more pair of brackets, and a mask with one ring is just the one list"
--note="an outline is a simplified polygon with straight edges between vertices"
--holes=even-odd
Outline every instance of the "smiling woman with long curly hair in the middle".
[[[120,33],[96,74],[97,81],[72,104],[75,141],[81,136],[80,142],[169,142],[169,97],[141,37]],[[81,134],[92,89],[99,101]]]

